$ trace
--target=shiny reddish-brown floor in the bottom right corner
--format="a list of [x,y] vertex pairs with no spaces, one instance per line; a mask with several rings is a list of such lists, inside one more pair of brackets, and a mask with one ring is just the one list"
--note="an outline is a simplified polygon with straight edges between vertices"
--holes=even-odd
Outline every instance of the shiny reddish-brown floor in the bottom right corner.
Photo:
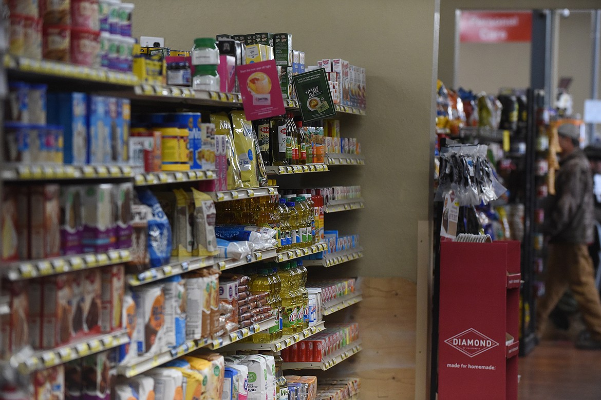
[[601,398],[601,351],[569,341],[543,341],[520,357],[520,400]]

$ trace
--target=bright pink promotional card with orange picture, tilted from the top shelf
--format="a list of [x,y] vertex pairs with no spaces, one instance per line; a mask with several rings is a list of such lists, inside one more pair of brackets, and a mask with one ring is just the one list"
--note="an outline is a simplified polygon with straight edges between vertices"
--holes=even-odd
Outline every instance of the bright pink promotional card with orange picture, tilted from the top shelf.
[[275,61],[240,65],[236,68],[236,75],[247,121],[286,113]]

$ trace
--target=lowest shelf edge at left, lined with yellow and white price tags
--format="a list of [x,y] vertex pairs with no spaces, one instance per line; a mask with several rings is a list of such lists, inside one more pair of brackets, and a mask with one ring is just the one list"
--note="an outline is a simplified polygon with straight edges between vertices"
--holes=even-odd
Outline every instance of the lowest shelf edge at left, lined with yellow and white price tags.
[[51,366],[80,359],[90,354],[109,350],[127,342],[129,342],[127,330],[122,329],[118,332],[85,338],[52,350],[37,351],[33,356],[27,357],[25,360],[19,359],[16,355],[13,356],[11,363],[18,365],[17,368],[22,374],[29,374],[38,369],[50,368]]

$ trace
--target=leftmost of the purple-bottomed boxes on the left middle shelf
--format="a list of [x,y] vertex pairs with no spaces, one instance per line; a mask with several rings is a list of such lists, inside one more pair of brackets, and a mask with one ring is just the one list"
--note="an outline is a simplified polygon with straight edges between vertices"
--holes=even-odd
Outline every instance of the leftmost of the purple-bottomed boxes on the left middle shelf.
[[84,252],[82,236],[84,233],[82,187],[63,185],[60,193],[61,207],[61,250],[64,255]]

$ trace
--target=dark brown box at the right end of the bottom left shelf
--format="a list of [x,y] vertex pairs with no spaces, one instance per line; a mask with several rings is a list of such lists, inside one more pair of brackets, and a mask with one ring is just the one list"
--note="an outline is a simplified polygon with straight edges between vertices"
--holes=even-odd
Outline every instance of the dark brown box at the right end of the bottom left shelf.
[[82,400],[111,398],[111,368],[108,351],[84,357],[81,360]]

